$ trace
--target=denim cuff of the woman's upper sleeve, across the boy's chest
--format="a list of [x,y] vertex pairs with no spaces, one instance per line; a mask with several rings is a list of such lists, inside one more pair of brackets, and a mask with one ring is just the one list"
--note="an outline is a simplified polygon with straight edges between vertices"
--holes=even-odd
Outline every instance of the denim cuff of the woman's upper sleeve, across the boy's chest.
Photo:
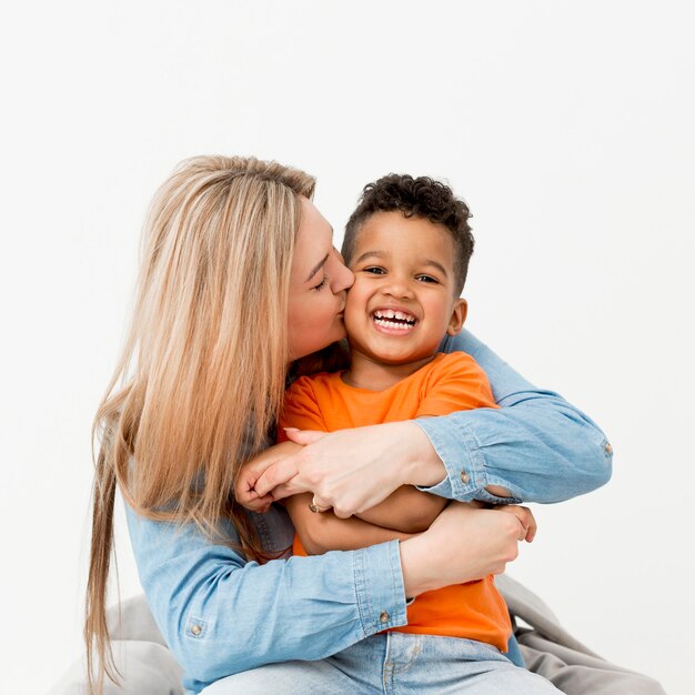
[[429,417],[414,422],[427,435],[446,469],[446,477],[441,483],[419,490],[460,502],[471,500],[495,504],[521,502],[520,497],[497,497],[485,490],[486,485],[496,483],[488,480],[485,455],[473,431],[462,419]]

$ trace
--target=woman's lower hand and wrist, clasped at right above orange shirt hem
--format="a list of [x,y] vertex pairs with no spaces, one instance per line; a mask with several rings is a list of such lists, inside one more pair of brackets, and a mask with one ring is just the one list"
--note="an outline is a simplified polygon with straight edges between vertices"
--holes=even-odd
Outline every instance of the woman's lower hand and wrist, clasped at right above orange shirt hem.
[[516,560],[518,542],[531,542],[535,532],[526,507],[452,502],[427,531],[401,542],[405,595],[501,574]]

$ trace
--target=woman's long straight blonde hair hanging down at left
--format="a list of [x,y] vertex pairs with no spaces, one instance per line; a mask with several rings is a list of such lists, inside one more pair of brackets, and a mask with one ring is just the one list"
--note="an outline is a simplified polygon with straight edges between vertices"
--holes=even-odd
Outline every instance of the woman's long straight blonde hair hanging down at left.
[[92,432],[90,692],[118,677],[105,622],[117,485],[138,514],[210,537],[231,516],[246,555],[264,557],[233,483],[279,414],[299,197],[314,183],[276,162],[198,157],[152,201],[130,331]]

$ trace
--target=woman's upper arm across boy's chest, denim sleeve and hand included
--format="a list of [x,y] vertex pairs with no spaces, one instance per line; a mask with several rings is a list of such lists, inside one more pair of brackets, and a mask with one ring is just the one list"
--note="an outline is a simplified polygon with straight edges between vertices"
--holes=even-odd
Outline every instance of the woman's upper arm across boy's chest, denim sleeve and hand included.
[[[462,502],[548,503],[608,481],[613,450],[580,410],[533,386],[466,331],[442,350],[472,354],[502,407],[328,435],[289,433],[304,449],[270,466],[256,490],[275,498],[311,490],[343,517],[407,484]],[[491,486],[512,496],[493,495]]]

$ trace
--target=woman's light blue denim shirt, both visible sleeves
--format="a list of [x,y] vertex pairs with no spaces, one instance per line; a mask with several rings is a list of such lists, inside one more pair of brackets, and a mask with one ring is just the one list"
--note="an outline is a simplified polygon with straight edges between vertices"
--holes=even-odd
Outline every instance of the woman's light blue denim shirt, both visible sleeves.
[[[535,389],[465,331],[442,350],[473,355],[503,407],[419,422],[447,471],[430,492],[496,500],[483,490],[495,484],[514,502],[558,502],[608,480],[612,450],[588,417]],[[323,658],[407,623],[397,541],[259,565],[192,525],[145,520],[128,505],[127,515],[148,603],[193,693],[263,664]],[[282,507],[252,518],[266,551],[291,545]],[[231,524],[223,532],[239,540]]]

